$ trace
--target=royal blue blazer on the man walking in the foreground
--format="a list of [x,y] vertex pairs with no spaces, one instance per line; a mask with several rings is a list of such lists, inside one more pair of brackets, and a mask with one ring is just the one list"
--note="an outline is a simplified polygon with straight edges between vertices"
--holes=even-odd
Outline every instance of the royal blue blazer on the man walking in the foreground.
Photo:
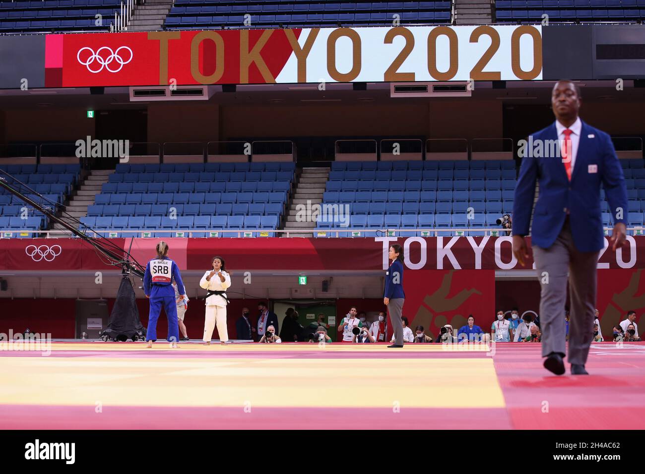
[[[557,140],[555,122],[533,133],[532,137],[533,143],[537,140]],[[530,154],[528,151],[527,155]],[[593,168],[597,171],[593,172]],[[610,136],[584,122],[571,182],[560,157],[526,156],[522,159],[513,202],[513,235],[529,233],[536,181],[540,183],[540,194],[533,214],[533,245],[549,248],[562,230],[569,210],[575,248],[579,252],[602,249],[604,234],[600,215],[600,184],[604,187],[614,222],[626,223],[628,220],[625,179]],[[617,219],[620,209],[622,215]]]

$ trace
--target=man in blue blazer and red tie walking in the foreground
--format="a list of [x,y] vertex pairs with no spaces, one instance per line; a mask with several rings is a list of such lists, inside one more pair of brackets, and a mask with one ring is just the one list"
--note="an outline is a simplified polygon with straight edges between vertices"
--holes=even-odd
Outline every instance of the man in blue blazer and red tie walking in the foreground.
[[[581,121],[580,104],[575,84],[555,84],[551,107],[556,121],[529,137],[533,146],[523,153],[513,202],[513,253],[524,265],[528,258],[524,236],[529,233],[535,183],[540,183],[531,244],[542,286],[542,357],[546,357],[544,367],[556,375],[564,373],[567,273],[571,300],[568,360],[573,375],[588,373],[584,365],[593,339],[596,266],[604,246],[600,184],[615,222],[612,250],[624,243],[628,220],[625,180],[610,136]],[[553,141],[560,145],[555,153],[549,146]],[[537,148],[540,145],[542,150]]]

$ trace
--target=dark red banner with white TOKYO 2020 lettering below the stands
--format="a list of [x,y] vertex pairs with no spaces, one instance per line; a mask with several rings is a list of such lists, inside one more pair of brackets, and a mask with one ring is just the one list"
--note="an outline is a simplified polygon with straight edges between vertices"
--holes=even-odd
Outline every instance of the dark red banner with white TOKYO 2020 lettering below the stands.
[[[388,248],[399,243],[409,270],[521,270],[511,252],[511,237],[375,237],[164,239],[182,270],[204,270],[214,255],[233,270],[380,271]],[[605,238],[609,246],[608,237]],[[628,236],[625,248],[605,248],[598,268],[645,268],[645,237]],[[130,250],[131,239],[110,239]],[[145,265],[155,257],[159,239],[134,239],[132,255]],[[99,270],[109,266],[94,247],[79,239],[0,239],[1,270]]]

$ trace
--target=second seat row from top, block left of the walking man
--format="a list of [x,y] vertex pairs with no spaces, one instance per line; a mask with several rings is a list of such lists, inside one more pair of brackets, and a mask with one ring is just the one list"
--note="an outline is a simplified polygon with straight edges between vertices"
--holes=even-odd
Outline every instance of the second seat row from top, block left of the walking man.
[[415,181],[419,179],[515,179],[515,170],[380,170],[332,171],[329,181]]

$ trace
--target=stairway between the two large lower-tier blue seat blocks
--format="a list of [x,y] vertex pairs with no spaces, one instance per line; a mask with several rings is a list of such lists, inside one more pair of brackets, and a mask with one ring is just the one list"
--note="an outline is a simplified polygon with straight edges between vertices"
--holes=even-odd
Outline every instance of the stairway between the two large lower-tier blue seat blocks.
[[[297,231],[298,229],[315,228],[316,222],[298,222],[296,221],[297,205],[304,204],[307,208],[307,202],[321,204],[323,202],[323,193],[329,179],[330,168],[303,168],[300,177],[296,178],[293,199],[289,213],[284,222],[284,230]],[[286,235],[282,234],[281,235]],[[312,232],[290,233],[289,237],[313,237]]]

